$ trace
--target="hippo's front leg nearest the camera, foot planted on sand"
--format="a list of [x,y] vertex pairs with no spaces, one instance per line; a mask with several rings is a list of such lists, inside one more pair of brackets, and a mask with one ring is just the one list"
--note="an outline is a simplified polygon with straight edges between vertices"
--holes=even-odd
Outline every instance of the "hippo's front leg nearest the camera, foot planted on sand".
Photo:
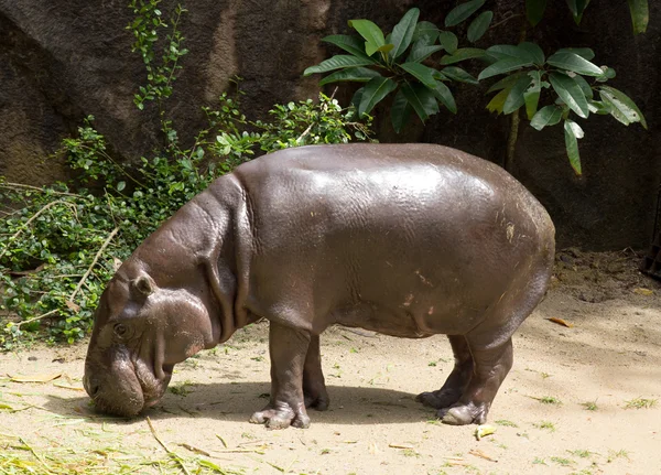
[[266,424],[269,429],[310,427],[303,397],[303,373],[310,343],[307,332],[271,322],[271,399],[264,409],[252,414],[250,422]]

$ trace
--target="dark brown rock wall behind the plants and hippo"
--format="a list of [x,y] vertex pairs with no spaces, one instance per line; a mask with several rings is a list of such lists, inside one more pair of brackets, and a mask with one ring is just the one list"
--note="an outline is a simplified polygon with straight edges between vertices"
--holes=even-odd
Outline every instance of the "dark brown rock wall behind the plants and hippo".
[[[84,117],[96,126],[120,160],[136,160],[156,142],[154,107],[132,104],[143,83],[141,58],[130,52],[124,30],[127,0],[0,0],[0,174],[10,181],[44,184],[66,177],[59,158],[48,158],[62,138],[75,133]],[[478,45],[517,43],[521,37],[519,0],[495,2],[496,22]],[[552,2],[549,2],[552,3]],[[576,179],[564,151],[561,128],[519,130],[511,172],[551,212],[559,245],[586,249],[643,248],[653,226],[661,181],[661,4],[650,2],[648,33],[633,36],[627,3],[595,0],[581,26],[564,2],[525,35],[546,52],[560,46],[592,46],[598,64],[617,69],[613,85],[641,107],[650,130],[625,128],[610,117],[590,118],[581,140],[584,177]],[[174,1],[164,0],[163,11]],[[243,105],[263,116],[275,102],[315,97],[318,77],[305,67],[335,53],[319,42],[348,31],[347,20],[369,18],[390,29],[411,7],[422,19],[442,24],[454,0],[196,0],[186,4],[182,32],[191,53],[170,100],[177,128],[204,123],[199,109],[212,105],[235,75],[243,77]],[[511,17],[511,18],[510,18]],[[509,18],[509,20],[507,20]],[[503,21],[505,20],[505,21]],[[459,114],[440,114],[395,136],[388,118],[377,123],[381,141],[420,140],[457,147],[503,163],[509,117],[489,115],[484,88],[454,87]],[[338,98],[348,97],[339,90]]]

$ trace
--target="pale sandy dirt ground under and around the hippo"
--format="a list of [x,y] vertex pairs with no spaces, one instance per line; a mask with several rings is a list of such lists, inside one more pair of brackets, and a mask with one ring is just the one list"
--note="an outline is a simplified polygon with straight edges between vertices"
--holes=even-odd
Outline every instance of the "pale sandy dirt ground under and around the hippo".
[[249,424],[269,392],[268,325],[257,324],[177,367],[147,414],[155,432],[145,417],[90,410],[84,345],[0,355],[0,453],[89,452],[117,473],[136,454],[166,455],[158,435],[228,473],[661,473],[661,285],[638,263],[632,252],[559,255],[552,289],[514,336],[514,367],[489,413],[496,432],[479,441],[475,425],[443,425],[413,400],[449,373],[445,337],[343,328],[322,339],[330,409],[311,411],[307,430]]

